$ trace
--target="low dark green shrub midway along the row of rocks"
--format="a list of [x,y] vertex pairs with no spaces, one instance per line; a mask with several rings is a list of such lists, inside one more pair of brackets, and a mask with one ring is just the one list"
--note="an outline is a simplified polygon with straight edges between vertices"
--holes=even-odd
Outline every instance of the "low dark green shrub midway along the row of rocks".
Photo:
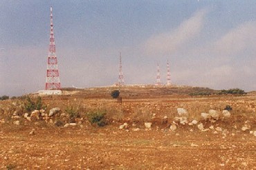
[[92,125],[98,125],[99,127],[103,127],[107,124],[105,115],[106,113],[103,111],[95,111],[87,114],[87,118]]

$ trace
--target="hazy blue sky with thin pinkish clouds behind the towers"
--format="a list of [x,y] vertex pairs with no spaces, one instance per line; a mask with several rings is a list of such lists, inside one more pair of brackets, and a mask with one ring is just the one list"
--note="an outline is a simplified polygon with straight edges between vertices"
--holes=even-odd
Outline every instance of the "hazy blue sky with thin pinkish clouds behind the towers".
[[0,96],[44,89],[50,7],[62,87],[118,82],[256,90],[254,0],[1,0]]

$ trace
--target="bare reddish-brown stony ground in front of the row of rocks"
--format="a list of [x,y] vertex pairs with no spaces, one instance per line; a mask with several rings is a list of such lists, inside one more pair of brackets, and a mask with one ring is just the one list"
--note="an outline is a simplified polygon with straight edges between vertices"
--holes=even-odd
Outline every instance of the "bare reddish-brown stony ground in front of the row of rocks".
[[248,132],[1,127],[1,169],[256,169]]

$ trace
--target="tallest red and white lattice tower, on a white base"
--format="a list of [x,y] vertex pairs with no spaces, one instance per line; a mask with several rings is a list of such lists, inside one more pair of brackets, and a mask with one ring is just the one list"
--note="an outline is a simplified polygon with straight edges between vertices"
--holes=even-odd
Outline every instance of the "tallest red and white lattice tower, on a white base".
[[51,7],[50,14],[51,32],[50,32],[50,46],[47,60],[47,75],[46,75],[46,90],[60,89],[60,75],[57,67],[57,57],[55,54],[55,40],[53,34],[53,8]]

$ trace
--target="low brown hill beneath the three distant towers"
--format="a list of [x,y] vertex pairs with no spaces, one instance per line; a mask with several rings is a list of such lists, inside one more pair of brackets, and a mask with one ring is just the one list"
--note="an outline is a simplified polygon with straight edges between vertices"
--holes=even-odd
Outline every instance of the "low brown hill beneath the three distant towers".
[[64,95],[75,95],[84,98],[109,98],[113,90],[118,89],[122,98],[161,98],[167,96],[190,94],[217,94],[217,90],[208,87],[191,86],[154,86],[154,85],[125,85],[122,87],[92,87],[86,89],[63,88]]

